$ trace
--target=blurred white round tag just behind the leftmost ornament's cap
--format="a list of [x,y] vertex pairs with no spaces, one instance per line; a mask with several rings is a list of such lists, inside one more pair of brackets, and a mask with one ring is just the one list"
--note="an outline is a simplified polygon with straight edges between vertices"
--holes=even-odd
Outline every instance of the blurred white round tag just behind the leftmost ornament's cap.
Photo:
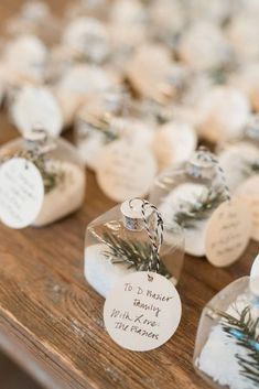
[[24,87],[11,107],[11,116],[23,134],[35,126],[41,126],[52,137],[62,132],[62,110],[51,90],[44,87]]

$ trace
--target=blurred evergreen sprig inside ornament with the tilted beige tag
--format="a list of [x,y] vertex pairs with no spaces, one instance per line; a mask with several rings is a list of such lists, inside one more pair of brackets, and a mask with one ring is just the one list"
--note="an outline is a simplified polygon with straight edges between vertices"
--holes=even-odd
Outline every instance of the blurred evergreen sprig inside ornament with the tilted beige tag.
[[174,215],[174,221],[183,228],[195,228],[196,221],[205,220],[212,212],[226,201],[225,190],[213,187],[194,202],[184,202]]

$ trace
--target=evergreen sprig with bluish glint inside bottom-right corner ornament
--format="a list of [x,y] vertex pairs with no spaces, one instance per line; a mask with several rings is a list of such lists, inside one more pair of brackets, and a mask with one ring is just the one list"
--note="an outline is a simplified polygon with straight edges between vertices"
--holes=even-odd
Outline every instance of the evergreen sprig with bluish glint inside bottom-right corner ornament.
[[247,358],[236,354],[240,374],[259,383],[259,317],[252,318],[250,306],[237,312],[238,317],[222,311],[216,311],[216,314],[223,320],[224,332],[234,337],[239,346],[248,350]]

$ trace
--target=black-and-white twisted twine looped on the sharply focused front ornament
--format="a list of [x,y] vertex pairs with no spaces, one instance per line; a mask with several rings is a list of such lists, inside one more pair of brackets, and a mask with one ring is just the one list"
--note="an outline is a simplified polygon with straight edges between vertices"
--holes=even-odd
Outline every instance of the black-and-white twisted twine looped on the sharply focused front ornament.
[[[158,208],[148,202],[147,199],[142,198],[132,198],[129,202],[131,208],[133,208],[133,202],[141,201],[141,214],[143,218],[144,228],[151,241],[151,257],[149,261],[148,272],[159,272],[160,269],[160,248],[163,242],[163,219],[158,210]],[[150,215],[148,216],[148,210],[152,209],[151,216],[155,216],[155,218],[150,221]],[[152,275],[148,274],[149,281],[152,281]]]

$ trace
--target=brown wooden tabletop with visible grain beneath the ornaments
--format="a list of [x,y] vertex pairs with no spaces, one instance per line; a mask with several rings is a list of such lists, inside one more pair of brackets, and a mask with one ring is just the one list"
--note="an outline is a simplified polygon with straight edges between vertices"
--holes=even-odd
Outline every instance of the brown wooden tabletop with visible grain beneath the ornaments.
[[[60,10],[66,1],[52,1]],[[0,20],[22,1],[1,0]],[[0,144],[18,137],[0,115]],[[50,389],[205,389],[192,357],[202,309],[222,288],[249,272],[259,245],[239,262],[213,268],[185,258],[177,287],[183,318],[164,346],[149,353],[121,349],[107,335],[104,300],[83,275],[87,224],[114,203],[87,172],[85,205],[47,228],[11,230],[0,226],[0,347]]]

